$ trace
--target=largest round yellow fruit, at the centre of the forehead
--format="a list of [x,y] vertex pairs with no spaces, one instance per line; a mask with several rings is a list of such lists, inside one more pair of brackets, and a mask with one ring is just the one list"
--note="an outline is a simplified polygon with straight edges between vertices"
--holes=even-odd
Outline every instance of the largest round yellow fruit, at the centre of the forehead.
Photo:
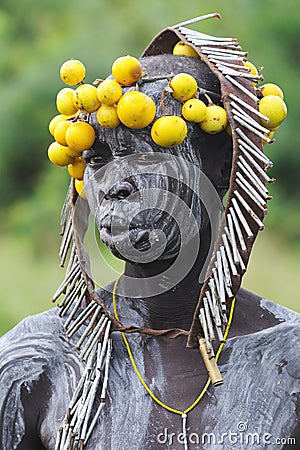
[[148,126],[155,117],[156,106],[152,98],[138,91],[124,94],[118,103],[120,121],[128,128],[140,129]]

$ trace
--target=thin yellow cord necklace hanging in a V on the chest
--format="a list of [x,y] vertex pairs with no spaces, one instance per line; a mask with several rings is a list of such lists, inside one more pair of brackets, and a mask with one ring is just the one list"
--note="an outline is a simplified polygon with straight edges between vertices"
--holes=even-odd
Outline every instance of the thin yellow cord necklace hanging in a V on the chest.
[[[114,284],[114,288],[113,288],[113,294],[112,294],[112,301],[113,301],[113,308],[114,308],[114,315],[116,317],[117,320],[119,320],[119,315],[118,315],[118,310],[117,310],[117,288],[119,285],[119,282],[122,278],[121,274],[115,281]],[[234,307],[235,307],[235,299],[232,300],[231,303],[231,308],[230,308],[230,312],[229,312],[229,317],[228,317],[228,323],[224,332],[224,341],[226,340],[229,330],[230,330],[230,326],[232,323],[232,319],[233,319],[233,312],[234,312]],[[141,372],[139,371],[136,362],[134,360],[134,356],[133,353],[131,351],[128,339],[126,337],[126,334],[124,332],[121,332],[122,335],[122,339],[124,341],[130,362],[132,364],[132,367],[134,368],[134,371],[138,377],[138,379],[140,380],[141,384],[143,385],[143,387],[145,388],[145,390],[148,392],[148,394],[150,395],[150,397],[152,398],[152,400],[154,400],[159,406],[161,406],[162,408],[166,409],[167,411],[170,411],[173,414],[177,414],[180,415],[182,418],[182,436],[183,436],[183,445],[184,445],[184,450],[188,450],[188,438],[187,438],[187,415],[190,411],[192,411],[192,409],[195,408],[195,406],[198,405],[198,403],[200,402],[200,400],[204,397],[205,393],[207,392],[207,389],[209,387],[209,385],[211,384],[211,379],[208,378],[204,388],[202,389],[202,391],[200,392],[200,394],[198,395],[198,397],[196,398],[196,400],[186,409],[179,410],[176,408],[172,408],[169,405],[166,405],[164,402],[162,402],[158,397],[156,397],[156,395],[151,391],[151,389],[149,388],[149,386],[147,385],[145,379],[143,378]],[[223,349],[225,345],[225,342],[222,342],[217,350],[216,353],[216,361],[218,361],[220,353]]]

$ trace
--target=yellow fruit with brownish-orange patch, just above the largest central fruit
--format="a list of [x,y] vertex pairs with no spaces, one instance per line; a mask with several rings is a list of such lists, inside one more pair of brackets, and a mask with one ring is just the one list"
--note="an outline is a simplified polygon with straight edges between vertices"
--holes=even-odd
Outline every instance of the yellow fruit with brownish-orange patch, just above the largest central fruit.
[[142,66],[133,56],[120,56],[112,65],[112,76],[124,86],[136,83],[143,75]]

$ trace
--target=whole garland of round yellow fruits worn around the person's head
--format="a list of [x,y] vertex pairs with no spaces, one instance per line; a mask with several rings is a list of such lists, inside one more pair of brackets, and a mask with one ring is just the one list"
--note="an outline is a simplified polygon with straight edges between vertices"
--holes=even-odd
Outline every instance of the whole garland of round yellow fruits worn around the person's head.
[[[173,54],[199,58],[191,46],[181,41],[174,46]],[[250,73],[258,74],[252,63],[246,61],[245,66]],[[139,91],[139,84],[146,76],[140,61],[129,55],[122,56],[114,61],[111,72],[112,79],[87,84],[82,62],[71,59],[60,68],[60,77],[68,87],[61,89],[56,97],[59,114],[49,124],[55,140],[48,148],[48,156],[54,164],[68,167],[75,178],[75,187],[83,197],[85,162],[81,155],[96,138],[93,126],[88,122],[91,113],[95,113],[104,128],[115,128],[122,123],[128,128],[142,129],[153,122],[151,137],[157,145],[166,148],[183,142],[188,132],[186,121],[198,123],[209,134],[228,128],[225,109],[214,104],[207,95],[207,104],[200,100],[197,82],[187,73],[175,75],[162,93],[162,99],[169,93],[182,102],[181,116],[163,114],[154,120],[156,105],[153,99]],[[135,88],[123,94],[122,86],[132,85]],[[287,114],[283,93],[278,86],[269,83],[257,88],[257,94],[259,111],[269,118],[268,122],[262,120],[262,125],[273,133]]]

